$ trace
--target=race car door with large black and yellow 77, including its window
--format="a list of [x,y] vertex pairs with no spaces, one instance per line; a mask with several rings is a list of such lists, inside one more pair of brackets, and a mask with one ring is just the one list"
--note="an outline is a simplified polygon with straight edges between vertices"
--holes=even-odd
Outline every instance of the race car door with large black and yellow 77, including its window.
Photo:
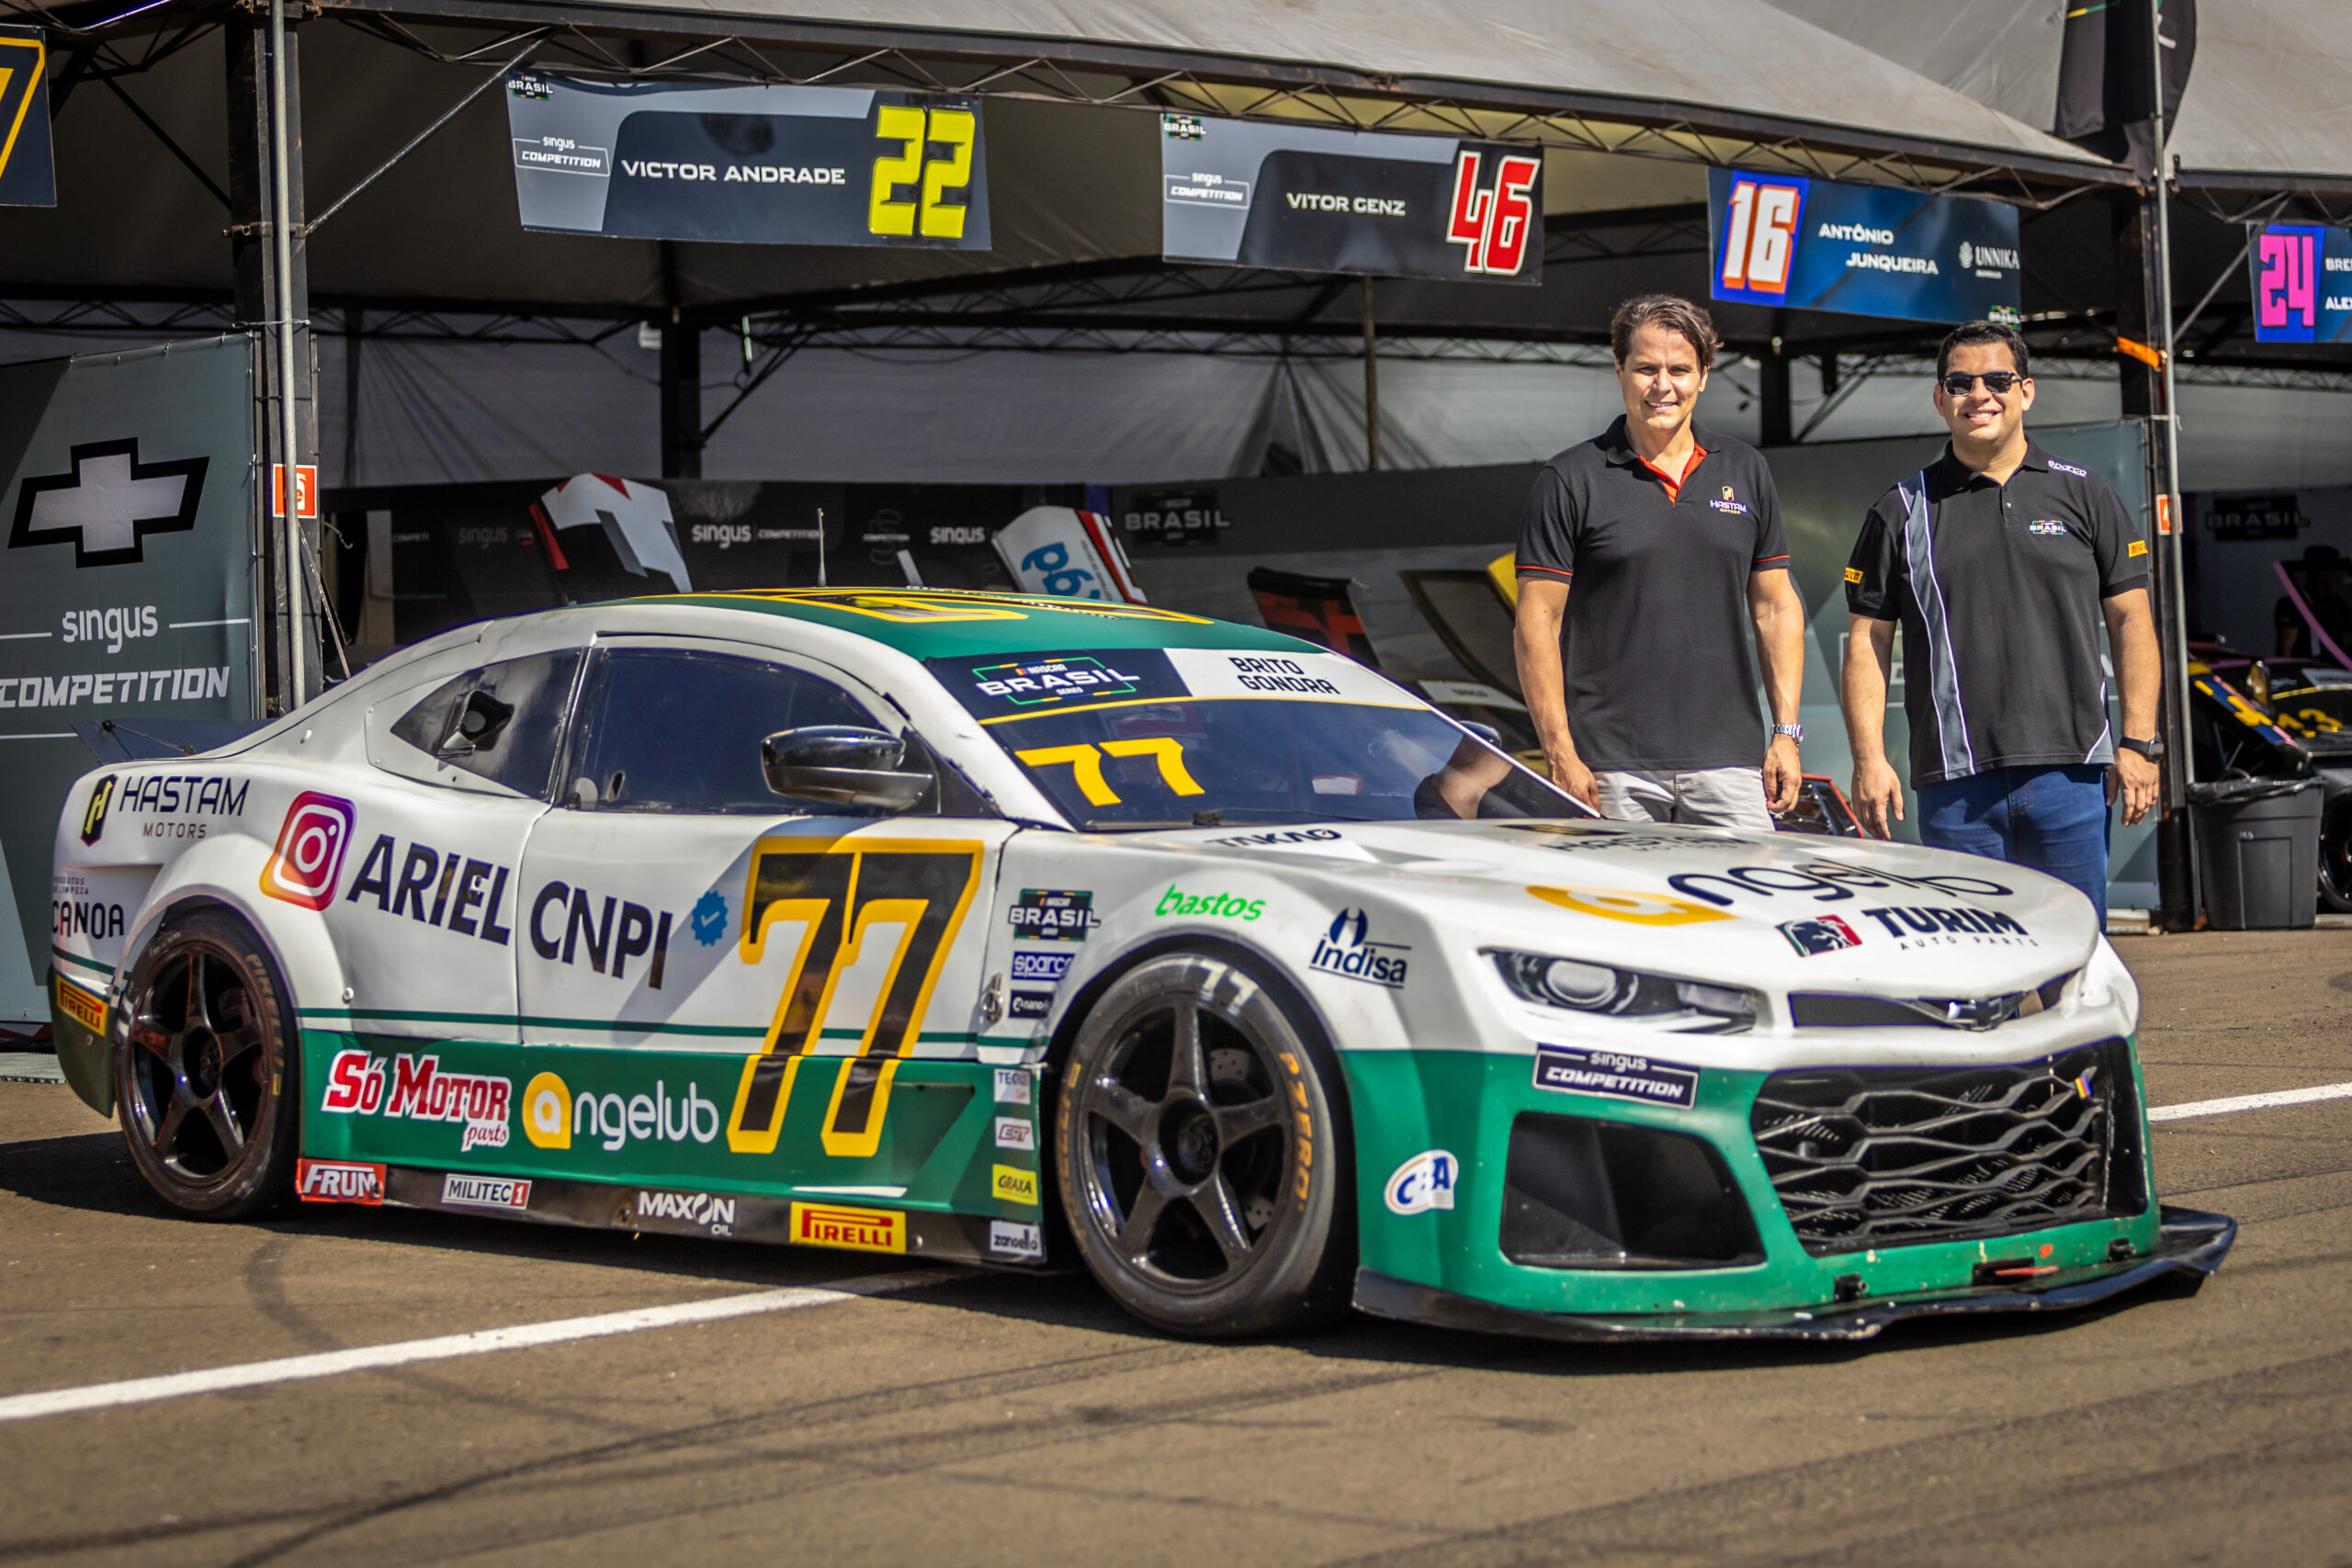
[[955,1095],[898,1093],[894,1112],[894,1084],[910,1063],[976,1058],[1011,830],[936,799],[877,816],[776,795],[762,738],[816,724],[906,731],[818,661],[597,644],[557,809],[524,851],[515,943],[524,1044],[567,1048],[524,1131],[576,1159],[593,1147],[583,1175],[880,1197],[946,1133]]

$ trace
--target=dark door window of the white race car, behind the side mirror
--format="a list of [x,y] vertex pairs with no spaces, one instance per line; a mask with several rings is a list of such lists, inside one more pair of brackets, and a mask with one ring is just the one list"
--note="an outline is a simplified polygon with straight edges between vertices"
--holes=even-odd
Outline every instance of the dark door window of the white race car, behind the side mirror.
[[[703,816],[870,816],[868,806],[786,799],[767,788],[760,743],[781,729],[875,715],[833,682],[760,658],[607,649],[590,675],[562,804],[581,811]],[[913,752],[910,752],[913,755]]]

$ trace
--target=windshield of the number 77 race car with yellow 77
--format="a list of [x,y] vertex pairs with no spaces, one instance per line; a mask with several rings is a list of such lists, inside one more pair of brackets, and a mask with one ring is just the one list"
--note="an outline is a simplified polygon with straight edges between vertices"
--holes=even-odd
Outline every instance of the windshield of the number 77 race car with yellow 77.
[[934,658],[1077,827],[1590,816],[1336,654]]

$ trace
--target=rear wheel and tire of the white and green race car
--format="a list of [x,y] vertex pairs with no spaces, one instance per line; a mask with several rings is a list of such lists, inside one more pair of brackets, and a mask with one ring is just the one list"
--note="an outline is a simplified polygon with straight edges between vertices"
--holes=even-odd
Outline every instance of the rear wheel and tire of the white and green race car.
[[193,1220],[289,1201],[301,1131],[294,999],[228,910],[174,917],[122,987],[115,1119],[148,1187]]

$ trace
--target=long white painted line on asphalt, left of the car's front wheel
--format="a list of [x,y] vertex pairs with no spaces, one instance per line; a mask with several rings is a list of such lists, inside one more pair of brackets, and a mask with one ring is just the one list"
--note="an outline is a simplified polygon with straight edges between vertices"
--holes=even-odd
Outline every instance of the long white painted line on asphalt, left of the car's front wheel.
[[614,1333],[642,1333],[647,1328],[717,1324],[722,1319],[755,1316],[762,1312],[830,1307],[835,1302],[858,1300],[866,1295],[913,1291],[917,1286],[938,1284],[941,1279],[953,1279],[953,1274],[941,1269],[922,1269],[917,1274],[875,1274],[830,1286],[753,1291],[750,1295],[720,1295],[699,1302],[670,1302],[668,1307],[633,1307],[630,1312],[600,1312],[595,1316],[560,1316],[546,1324],[515,1324],[513,1328],[447,1333],[433,1340],[400,1340],[393,1345],[329,1349],[315,1356],[280,1356],[275,1361],[247,1361],[245,1366],[214,1366],[200,1373],[172,1373],[167,1378],[129,1378],[125,1382],[92,1382],[78,1389],[14,1394],[0,1399],[0,1422],[33,1420],[38,1415],[68,1415],[73,1410],[108,1410],[113,1406],[153,1403],[158,1399],[186,1399],[188,1394],[219,1394],[221,1389],[252,1389],[268,1382],[301,1382],[306,1378],[369,1373],[386,1366],[409,1366],[412,1361],[487,1356],[494,1349],[564,1345],[569,1340],[597,1340]]

